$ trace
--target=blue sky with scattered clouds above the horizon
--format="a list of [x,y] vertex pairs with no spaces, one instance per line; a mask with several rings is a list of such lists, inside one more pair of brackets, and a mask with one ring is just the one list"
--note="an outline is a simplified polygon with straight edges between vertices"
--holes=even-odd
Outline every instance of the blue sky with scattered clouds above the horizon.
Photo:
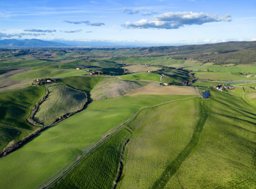
[[1,0],[0,40],[256,40],[255,0]]

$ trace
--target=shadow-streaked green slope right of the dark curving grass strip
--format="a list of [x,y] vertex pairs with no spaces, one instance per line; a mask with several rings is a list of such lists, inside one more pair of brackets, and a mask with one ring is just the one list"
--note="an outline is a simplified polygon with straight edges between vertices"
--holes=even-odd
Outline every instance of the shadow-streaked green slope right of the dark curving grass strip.
[[211,106],[197,146],[169,179],[183,188],[253,188],[255,186],[255,108],[242,98],[210,90]]

